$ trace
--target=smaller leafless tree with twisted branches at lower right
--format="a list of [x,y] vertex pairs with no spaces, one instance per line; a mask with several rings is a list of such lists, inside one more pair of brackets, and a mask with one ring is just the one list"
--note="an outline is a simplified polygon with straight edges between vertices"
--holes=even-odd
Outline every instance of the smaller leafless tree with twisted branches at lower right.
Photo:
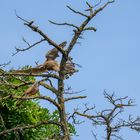
[[[74,109],[74,113],[70,116],[73,122],[76,121],[76,116],[82,116],[91,120],[93,126],[102,126],[105,128],[106,140],[111,140],[112,138],[123,140],[119,132],[123,128],[130,128],[132,130],[140,132],[140,117],[134,119],[132,115],[128,115],[128,120],[123,119],[121,114],[124,112],[125,108],[135,106],[132,99],[128,97],[116,98],[115,94],[108,94],[104,91],[104,98],[111,104],[111,107],[101,111],[96,111],[94,107],[88,107],[85,104],[84,111],[80,112],[78,108]],[[91,113],[92,112],[92,113]],[[95,132],[92,131],[95,140],[98,140]]]

